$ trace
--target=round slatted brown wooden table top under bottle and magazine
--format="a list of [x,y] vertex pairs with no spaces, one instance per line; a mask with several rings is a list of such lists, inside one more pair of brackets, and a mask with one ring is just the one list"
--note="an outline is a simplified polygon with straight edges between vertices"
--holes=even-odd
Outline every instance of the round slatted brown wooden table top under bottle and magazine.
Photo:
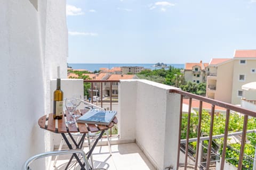
[[[88,112],[89,109],[81,109],[80,111],[76,111],[79,115],[84,115]],[[38,125],[40,128],[54,132],[54,133],[88,133],[88,132],[98,132],[102,130],[107,130],[117,124],[117,118],[115,117],[113,121],[109,125],[97,125],[97,124],[85,124],[85,123],[73,123],[66,124],[67,120],[70,120],[71,115],[66,114],[62,117],[61,120],[54,120],[53,114],[44,115],[38,120]]]

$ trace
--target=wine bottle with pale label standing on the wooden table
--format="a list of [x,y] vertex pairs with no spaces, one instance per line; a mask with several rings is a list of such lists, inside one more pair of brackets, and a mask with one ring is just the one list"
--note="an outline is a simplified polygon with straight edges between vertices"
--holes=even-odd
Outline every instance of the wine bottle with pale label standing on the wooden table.
[[60,89],[60,67],[58,66],[57,88],[53,92],[53,118],[61,119],[63,116],[63,91]]

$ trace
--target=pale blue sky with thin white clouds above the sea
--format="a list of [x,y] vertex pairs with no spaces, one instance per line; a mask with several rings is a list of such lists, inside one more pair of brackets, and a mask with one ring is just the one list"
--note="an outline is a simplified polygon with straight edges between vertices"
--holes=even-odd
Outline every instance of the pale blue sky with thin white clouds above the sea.
[[67,0],[68,63],[183,64],[256,49],[256,0]]

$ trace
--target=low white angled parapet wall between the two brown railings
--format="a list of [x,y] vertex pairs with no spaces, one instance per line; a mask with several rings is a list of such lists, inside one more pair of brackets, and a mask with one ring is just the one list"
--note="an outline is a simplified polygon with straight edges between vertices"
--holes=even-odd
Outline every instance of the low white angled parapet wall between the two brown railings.
[[176,167],[180,95],[147,80],[121,80],[118,132],[135,140],[157,169]]

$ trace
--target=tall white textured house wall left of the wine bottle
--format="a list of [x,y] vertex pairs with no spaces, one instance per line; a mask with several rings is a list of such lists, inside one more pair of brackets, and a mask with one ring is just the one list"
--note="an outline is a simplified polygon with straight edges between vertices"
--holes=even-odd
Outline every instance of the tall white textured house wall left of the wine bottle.
[[[50,79],[67,75],[66,1],[0,1],[1,169],[45,151],[37,121],[50,112]],[[44,163],[36,169],[45,169]]]

